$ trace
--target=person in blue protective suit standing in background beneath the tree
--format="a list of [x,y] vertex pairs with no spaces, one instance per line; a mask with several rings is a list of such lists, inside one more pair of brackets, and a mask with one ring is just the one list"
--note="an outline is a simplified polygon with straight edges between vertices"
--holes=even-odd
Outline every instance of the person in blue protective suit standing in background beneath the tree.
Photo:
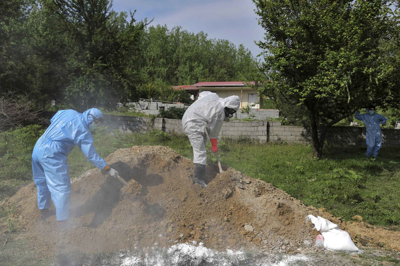
[[378,151],[382,145],[382,130],[380,124],[386,124],[386,117],[376,113],[375,106],[371,105],[367,108],[367,112],[360,115],[360,111],[356,112],[356,119],[364,122],[366,127],[367,156],[378,157]]

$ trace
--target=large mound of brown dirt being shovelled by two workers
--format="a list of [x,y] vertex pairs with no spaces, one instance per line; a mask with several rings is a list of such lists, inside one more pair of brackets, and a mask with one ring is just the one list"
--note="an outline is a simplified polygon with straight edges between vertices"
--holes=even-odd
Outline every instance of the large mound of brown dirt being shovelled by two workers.
[[[193,240],[216,250],[258,247],[294,252],[314,244],[317,231],[304,222],[308,214],[356,231],[354,224],[307,207],[284,191],[231,168],[219,174],[216,165],[208,165],[208,187],[202,189],[192,181],[192,161],[168,147],[120,149],[106,161],[132,186],[123,187],[98,169],[75,179],[70,204],[72,227],[68,230],[58,232],[54,213],[40,220],[33,183],[4,202],[17,206],[15,216],[24,230],[19,237],[45,254],[60,250],[109,252]],[[368,229],[362,235],[362,230],[356,232],[362,244],[373,240],[368,238]],[[393,243],[396,237],[399,235]],[[390,247],[398,248],[393,243]]]

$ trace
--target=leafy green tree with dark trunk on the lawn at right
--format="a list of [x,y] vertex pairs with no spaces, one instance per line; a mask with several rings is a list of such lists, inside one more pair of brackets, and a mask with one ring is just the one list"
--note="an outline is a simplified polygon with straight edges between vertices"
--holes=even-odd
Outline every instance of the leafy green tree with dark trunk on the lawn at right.
[[370,103],[394,104],[400,67],[386,44],[397,42],[399,18],[391,1],[253,2],[265,30],[258,46],[268,80],[259,91],[302,107],[314,157],[331,125]]

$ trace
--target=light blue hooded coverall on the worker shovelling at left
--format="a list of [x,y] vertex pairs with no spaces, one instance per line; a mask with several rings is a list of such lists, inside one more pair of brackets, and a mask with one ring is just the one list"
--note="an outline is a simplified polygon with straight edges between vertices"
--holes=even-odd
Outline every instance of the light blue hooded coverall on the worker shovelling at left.
[[32,153],[33,180],[38,189],[38,207],[50,207],[50,196],[56,207],[58,221],[68,219],[71,181],[67,155],[75,145],[94,166],[106,167],[106,162],[96,153],[89,125],[94,118],[103,117],[99,109],[84,113],[60,110],[50,120],[51,124],[38,139]]

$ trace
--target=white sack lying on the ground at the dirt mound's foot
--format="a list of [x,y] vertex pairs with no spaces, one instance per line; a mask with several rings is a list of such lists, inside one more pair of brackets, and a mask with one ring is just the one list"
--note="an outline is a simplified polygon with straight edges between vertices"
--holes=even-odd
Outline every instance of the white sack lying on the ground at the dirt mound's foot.
[[356,252],[359,249],[354,245],[348,232],[340,230],[337,224],[322,218],[308,215],[306,221],[311,221],[314,228],[324,237],[324,248],[338,252]]

